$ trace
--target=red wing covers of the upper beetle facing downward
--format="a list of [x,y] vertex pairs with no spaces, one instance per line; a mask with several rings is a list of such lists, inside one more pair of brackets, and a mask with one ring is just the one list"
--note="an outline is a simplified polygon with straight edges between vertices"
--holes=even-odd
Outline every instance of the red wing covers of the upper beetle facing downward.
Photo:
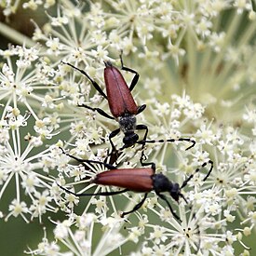
[[110,62],[105,62],[104,80],[109,108],[115,117],[124,114],[137,115],[138,106],[135,103],[123,75]]

